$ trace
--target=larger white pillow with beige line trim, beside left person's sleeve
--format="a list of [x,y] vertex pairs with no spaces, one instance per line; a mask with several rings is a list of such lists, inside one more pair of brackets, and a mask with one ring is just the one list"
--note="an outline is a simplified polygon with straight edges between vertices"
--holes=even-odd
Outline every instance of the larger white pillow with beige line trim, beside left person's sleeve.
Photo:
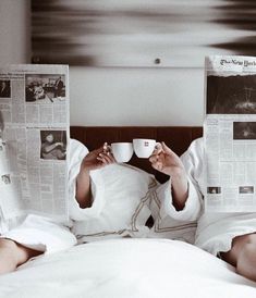
[[155,177],[127,164],[111,164],[92,171],[90,178],[93,206],[81,209],[76,202],[76,211],[73,208],[72,232],[78,241],[146,236],[149,189],[157,185]]

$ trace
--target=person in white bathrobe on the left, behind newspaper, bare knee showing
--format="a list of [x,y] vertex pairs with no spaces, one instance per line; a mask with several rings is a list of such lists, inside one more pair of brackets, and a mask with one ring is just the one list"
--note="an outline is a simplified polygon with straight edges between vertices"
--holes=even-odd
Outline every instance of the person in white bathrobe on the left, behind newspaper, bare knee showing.
[[[89,153],[77,140],[71,140],[70,147],[69,188],[70,193],[75,191],[70,194],[70,207],[75,213],[92,203],[89,171],[111,164],[114,159],[106,150],[106,146]],[[75,177],[71,177],[74,175]],[[31,258],[44,252],[64,250],[77,243],[70,231],[71,221],[60,224],[34,214],[8,222],[3,219],[0,209],[0,274],[14,271]]]

